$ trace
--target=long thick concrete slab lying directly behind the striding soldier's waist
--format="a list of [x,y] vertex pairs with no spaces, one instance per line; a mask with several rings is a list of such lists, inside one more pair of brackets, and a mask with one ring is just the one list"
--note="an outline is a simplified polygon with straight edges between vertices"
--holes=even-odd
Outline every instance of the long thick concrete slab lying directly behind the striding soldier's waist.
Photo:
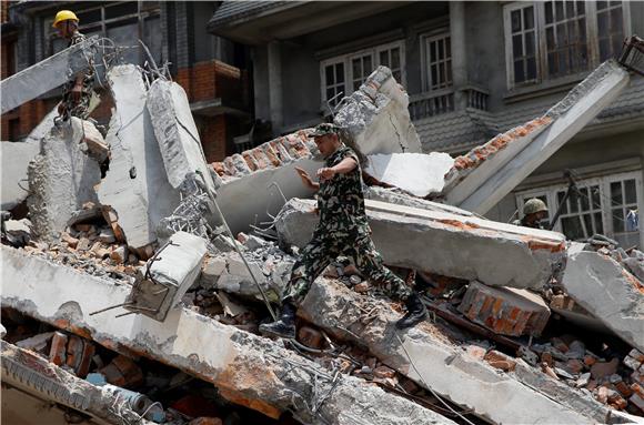
[[[473,216],[365,201],[373,241],[390,265],[490,286],[540,289],[561,267],[565,236]],[[303,247],[318,223],[313,200],[290,200],[276,219],[281,242]]]

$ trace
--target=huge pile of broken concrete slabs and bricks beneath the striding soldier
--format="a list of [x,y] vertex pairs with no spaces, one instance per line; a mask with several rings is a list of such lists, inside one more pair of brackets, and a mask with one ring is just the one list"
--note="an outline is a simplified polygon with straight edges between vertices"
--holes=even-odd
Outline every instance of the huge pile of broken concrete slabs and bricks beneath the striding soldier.
[[[616,95],[621,69],[603,67],[565,108],[452,160],[421,153],[407,95],[379,67],[335,123],[376,183],[365,191],[374,243],[431,316],[396,330],[402,306],[338,257],[300,306],[296,338],[271,340],[259,325],[274,318],[318,222],[294,172],[321,166],[311,129],[208,164],[178,84],[108,68],[115,108],[104,139],[89,121],[50,125],[29,165],[29,219],[2,214],[3,383],[109,423],[644,416],[642,252],[459,208],[517,158],[532,166],[530,152],[572,136],[590,120],[571,115],[576,102]],[[412,171],[420,182],[401,173],[410,155],[432,168]],[[423,199],[437,192],[446,203]]]

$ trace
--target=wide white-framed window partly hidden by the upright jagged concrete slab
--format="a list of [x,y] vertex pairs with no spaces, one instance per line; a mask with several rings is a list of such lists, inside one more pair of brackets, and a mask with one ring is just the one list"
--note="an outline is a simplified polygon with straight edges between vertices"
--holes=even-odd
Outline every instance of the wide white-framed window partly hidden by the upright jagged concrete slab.
[[[353,93],[378,68],[391,69],[398,82],[404,84],[404,47],[402,41],[364,49],[350,54],[326,59],[320,63],[322,102],[331,100],[335,107],[342,98]],[[342,94],[340,94],[342,93]]]

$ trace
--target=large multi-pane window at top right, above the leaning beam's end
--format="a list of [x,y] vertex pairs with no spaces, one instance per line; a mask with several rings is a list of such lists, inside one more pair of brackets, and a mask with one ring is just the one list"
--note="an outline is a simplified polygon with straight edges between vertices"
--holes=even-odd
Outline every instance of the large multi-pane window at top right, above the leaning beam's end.
[[628,17],[626,1],[537,1],[505,6],[509,88],[577,74],[617,57],[628,32]]

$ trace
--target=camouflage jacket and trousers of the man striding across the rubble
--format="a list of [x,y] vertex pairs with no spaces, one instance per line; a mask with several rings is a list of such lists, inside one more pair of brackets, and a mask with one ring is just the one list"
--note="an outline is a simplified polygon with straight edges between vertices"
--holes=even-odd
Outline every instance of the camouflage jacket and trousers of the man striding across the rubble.
[[[355,152],[342,144],[326,159],[326,166],[338,165],[345,158],[352,158],[359,163]],[[358,270],[382,286],[392,298],[409,298],[411,289],[383,265],[382,256],[371,241],[360,166],[320,182],[318,211],[320,222],[313,239],[293,265],[283,301],[301,303],[313,281],[339,255],[353,259]]]

